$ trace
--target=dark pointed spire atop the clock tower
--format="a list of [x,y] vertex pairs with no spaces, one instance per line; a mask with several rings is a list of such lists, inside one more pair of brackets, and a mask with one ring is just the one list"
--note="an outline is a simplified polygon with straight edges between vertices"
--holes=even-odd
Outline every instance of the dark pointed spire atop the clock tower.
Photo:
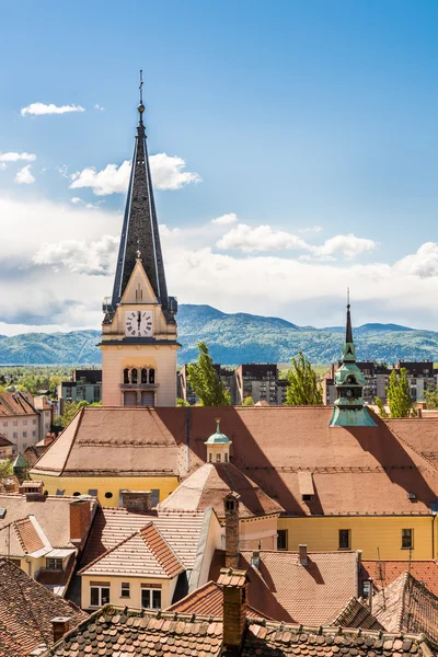
[[137,126],[132,166],[130,171],[128,197],[118,251],[117,269],[114,280],[112,306],[120,301],[136,264],[137,251],[149,281],[164,310],[168,308],[163,256],[153,199],[152,181],[149,169],[148,148],[143,125],[142,78],[140,71],[139,123]]

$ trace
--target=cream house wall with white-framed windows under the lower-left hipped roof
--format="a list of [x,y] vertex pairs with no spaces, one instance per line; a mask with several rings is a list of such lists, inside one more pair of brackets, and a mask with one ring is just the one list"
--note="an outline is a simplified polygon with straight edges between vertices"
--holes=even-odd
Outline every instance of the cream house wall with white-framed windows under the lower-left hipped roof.
[[[134,609],[141,608],[141,585],[147,584],[153,586],[158,584],[161,586],[161,608],[166,609],[172,604],[173,593],[175,591],[177,576],[173,579],[159,579],[148,577],[145,574],[143,577],[115,577],[106,575],[82,575],[81,586],[81,607],[82,609],[93,609],[90,607],[90,583],[110,583],[110,603],[118,604],[122,607],[132,607]],[[129,581],[130,597],[120,597],[120,587],[123,581]]]

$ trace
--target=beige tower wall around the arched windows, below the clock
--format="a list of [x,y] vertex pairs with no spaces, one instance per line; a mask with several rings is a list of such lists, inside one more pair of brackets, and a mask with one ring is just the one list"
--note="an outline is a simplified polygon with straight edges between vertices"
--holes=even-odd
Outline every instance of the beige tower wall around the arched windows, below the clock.
[[176,345],[102,344],[102,404],[123,406],[123,372],[126,367],[155,369],[155,406],[176,405]]

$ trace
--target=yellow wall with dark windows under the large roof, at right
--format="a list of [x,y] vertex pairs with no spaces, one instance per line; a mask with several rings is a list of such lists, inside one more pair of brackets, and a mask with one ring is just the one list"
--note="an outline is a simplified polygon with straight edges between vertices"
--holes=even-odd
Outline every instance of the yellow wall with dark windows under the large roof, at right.
[[[288,530],[288,550],[306,543],[311,552],[338,550],[339,529],[350,530],[350,549],[361,550],[362,558],[406,561],[410,550],[402,549],[402,529],[414,530],[413,560],[437,556],[437,521],[433,516],[343,516],[319,518],[279,518],[278,529]],[[435,535],[433,535],[435,534]]]

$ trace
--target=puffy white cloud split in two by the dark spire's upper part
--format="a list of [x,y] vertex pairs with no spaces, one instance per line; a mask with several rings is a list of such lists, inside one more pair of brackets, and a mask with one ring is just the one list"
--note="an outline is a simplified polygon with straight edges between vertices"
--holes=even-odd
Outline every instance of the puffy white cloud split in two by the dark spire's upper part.
[[[189,183],[200,181],[197,173],[183,171],[185,161],[176,155],[158,153],[149,158],[153,186],[157,189],[180,189]],[[119,166],[107,164],[102,171],[88,166],[71,175],[71,189],[90,187],[96,196],[123,194],[128,188],[130,162],[125,160]]]

